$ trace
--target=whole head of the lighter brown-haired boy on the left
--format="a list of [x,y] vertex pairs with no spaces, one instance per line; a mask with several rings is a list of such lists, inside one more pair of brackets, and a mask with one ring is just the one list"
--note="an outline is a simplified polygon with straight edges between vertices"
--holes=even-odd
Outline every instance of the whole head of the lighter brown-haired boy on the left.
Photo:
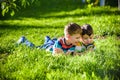
[[73,45],[76,45],[76,43],[80,40],[81,33],[82,29],[76,23],[70,23],[67,26],[65,26],[64,29],[65,38]]

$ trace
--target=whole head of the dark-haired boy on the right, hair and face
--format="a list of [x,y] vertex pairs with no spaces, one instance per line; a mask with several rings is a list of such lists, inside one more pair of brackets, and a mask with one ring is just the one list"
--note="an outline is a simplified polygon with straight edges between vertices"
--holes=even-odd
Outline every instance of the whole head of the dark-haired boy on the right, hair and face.
[[85,45],[93,43],[93,29],[91,25],[85,24],[82,27],[82,38],[81,42]]

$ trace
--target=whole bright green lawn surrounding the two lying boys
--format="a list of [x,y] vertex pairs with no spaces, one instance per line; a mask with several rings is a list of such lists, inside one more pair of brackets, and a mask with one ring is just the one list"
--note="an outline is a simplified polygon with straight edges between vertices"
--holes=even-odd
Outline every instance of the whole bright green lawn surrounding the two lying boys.
[[[52,0],[45,5],[41,0],[41,5],[36,2],[15,16],[0,20],[0,80],[120,79],[120,11],[108,6],[81,8],[79,0],[74,4],[66,2]],[[94,52],[53,57],[44,50],[15,44],[24,35],[35,45],[41,45],[46,35],[63,36],[64,26],[69,22],[93,26]]]

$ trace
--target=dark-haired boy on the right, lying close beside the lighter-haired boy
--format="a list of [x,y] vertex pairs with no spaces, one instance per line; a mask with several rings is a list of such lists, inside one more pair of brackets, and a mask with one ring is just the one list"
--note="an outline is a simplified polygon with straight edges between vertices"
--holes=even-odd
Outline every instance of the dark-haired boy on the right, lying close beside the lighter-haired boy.
[[86,50],[94,50],[95,44],[93,41],[93,29],[91,25],[85,24],[82,27],[82,38],[80,39],[80,43],[75,48],[75,52],[78,54],[86,51]]

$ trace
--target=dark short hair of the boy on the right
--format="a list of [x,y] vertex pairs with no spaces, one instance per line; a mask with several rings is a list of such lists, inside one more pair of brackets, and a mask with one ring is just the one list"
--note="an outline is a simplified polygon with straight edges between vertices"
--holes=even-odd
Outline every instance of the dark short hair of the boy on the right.
[[91,34],[93,34],[93,29],[90,24],[85,24],[81,28],[82,28],[82,35],[87,34],[90,36]]

